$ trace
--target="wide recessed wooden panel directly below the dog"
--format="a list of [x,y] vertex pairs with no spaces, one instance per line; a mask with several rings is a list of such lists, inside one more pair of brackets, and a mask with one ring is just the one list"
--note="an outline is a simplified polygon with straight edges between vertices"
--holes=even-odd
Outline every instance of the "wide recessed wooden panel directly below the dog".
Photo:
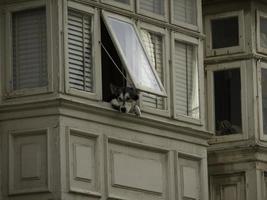
[[168,153],[113,142],[108,143],[109,197],[166,199]]

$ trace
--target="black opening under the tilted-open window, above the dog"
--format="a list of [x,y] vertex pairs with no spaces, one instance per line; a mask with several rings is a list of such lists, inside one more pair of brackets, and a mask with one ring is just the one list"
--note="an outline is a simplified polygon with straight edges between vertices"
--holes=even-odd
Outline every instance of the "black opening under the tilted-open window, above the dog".
[[[117,53],[117,50],[109,36],[109,33],[105,27],[104,22],[101,20],[101,42],[110,54],[117,67],[125,75],[125,70],[122,66],[121,60]],[[118,87],[126,86],[126,80],[117,69],[116,65],[112,62],[104,48],[101,48],[101,61],[102,61],[102,96],[103,101],[110,102],[112,100],[112,94],[110,85],[113,84]],[[126,75],[125,75],[126,76]]]

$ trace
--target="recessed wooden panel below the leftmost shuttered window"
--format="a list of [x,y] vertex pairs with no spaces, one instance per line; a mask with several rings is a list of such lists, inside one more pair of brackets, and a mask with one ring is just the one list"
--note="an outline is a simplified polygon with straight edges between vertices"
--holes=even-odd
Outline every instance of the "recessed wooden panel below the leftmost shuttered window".
[[10,135],[9,192],[48,190],[47,132],[31,131]]

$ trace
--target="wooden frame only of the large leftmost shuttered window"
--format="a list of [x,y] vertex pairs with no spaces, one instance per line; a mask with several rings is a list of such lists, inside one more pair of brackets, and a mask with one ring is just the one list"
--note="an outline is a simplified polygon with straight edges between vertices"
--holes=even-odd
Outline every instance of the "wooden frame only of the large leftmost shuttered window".
[[[52,2],[49,0],[38,0],[30,1],[16,5],[9,5],[5,7],[6,19],[5,19],[5,49],[6,49],[6,97],[19,97],[28,96],[34,94],[53,92],[53,39],[52,39]],[[46,37],[47,37],[47,86],[24,88],[24,89],[13,89],[13,53],[12,53],[12,13],[18,11],[26,11],[28,9],[35,9],[39,7],[45,7],[46,10]]]

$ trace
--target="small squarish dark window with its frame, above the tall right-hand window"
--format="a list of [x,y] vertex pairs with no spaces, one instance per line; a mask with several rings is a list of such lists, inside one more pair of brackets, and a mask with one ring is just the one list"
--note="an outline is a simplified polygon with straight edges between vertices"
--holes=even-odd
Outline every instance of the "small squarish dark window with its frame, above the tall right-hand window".
[[243,11],[206,16],[207,56],[244,51]]

